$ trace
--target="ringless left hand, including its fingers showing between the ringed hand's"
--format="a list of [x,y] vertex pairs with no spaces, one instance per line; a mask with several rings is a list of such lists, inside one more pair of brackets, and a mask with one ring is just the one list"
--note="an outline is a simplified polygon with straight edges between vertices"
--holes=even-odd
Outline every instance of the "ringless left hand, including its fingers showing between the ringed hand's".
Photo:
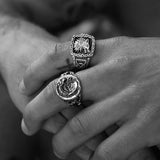
[[[10,20],[12,20],[10,21],[12,30],[8,30],[3,37],[1,36],[3,41],[1,41],[0,69],[15,106],[23,114],[25,106],[36,94],[34,96],[25,96],[19,92],[20,80],[26,68],[34,63],[35,60],[40,57],[43,58],[46,55],[50,57],[50,52],[54,53],[58,40],[43,29],[30,23],[19,19]],[[17,25],[13,26],[13,24]],[[50,61],[52,62],[52,59]],[[60,61],[57,60],[57,66],[59,65],[62,66]],[[75,115],[75,112],[78,112],[78,110],[68,110],[63,112],[63,115],[57,114],[54,117],[50,117],[43,128],[55,134],[66,124],[68,119]],[[84,160],[88,159],[93,149],[102,141],[103,137],[104,135],[95,137],[86,143],[86,145],[77,149],[76,154]]]

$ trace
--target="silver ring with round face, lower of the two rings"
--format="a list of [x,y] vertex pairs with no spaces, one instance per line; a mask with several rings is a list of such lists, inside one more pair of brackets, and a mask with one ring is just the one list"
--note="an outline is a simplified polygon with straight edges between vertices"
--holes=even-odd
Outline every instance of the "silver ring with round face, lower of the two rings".
[[56,81],[57,95],[70,106],[81,105],[81,83],[73,72],[63,73]]

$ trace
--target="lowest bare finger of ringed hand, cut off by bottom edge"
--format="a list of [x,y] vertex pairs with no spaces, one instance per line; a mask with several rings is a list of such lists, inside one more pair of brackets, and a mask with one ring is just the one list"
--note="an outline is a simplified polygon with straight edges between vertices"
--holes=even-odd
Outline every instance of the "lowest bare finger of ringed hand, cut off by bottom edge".
[[91,160],[124,160],[147,144],[145,133],[139,121],[122,126],[111,137],[103,141]]

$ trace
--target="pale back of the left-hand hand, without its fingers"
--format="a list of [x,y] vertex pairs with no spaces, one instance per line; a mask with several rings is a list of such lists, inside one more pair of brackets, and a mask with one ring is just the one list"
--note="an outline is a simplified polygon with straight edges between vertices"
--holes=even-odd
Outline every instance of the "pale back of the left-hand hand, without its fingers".
[[8,21],[8,30],[0,37],[0,69],[13,102],[23,112],[32,97],[19,92],[20,80],[35,59],[53,51],[57,39],[23,20],[10,18]]

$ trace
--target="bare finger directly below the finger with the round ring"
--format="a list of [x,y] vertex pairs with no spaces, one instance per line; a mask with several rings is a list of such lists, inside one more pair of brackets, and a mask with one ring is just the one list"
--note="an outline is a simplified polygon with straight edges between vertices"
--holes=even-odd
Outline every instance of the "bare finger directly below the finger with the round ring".
[[72,150],[101,133],[108,126],[126,119],[129,111],[127,101],[133,97],[133,92],[134,88],[127,88],[110,99],[84,109],[54,136],[54,151],[66,157]]

